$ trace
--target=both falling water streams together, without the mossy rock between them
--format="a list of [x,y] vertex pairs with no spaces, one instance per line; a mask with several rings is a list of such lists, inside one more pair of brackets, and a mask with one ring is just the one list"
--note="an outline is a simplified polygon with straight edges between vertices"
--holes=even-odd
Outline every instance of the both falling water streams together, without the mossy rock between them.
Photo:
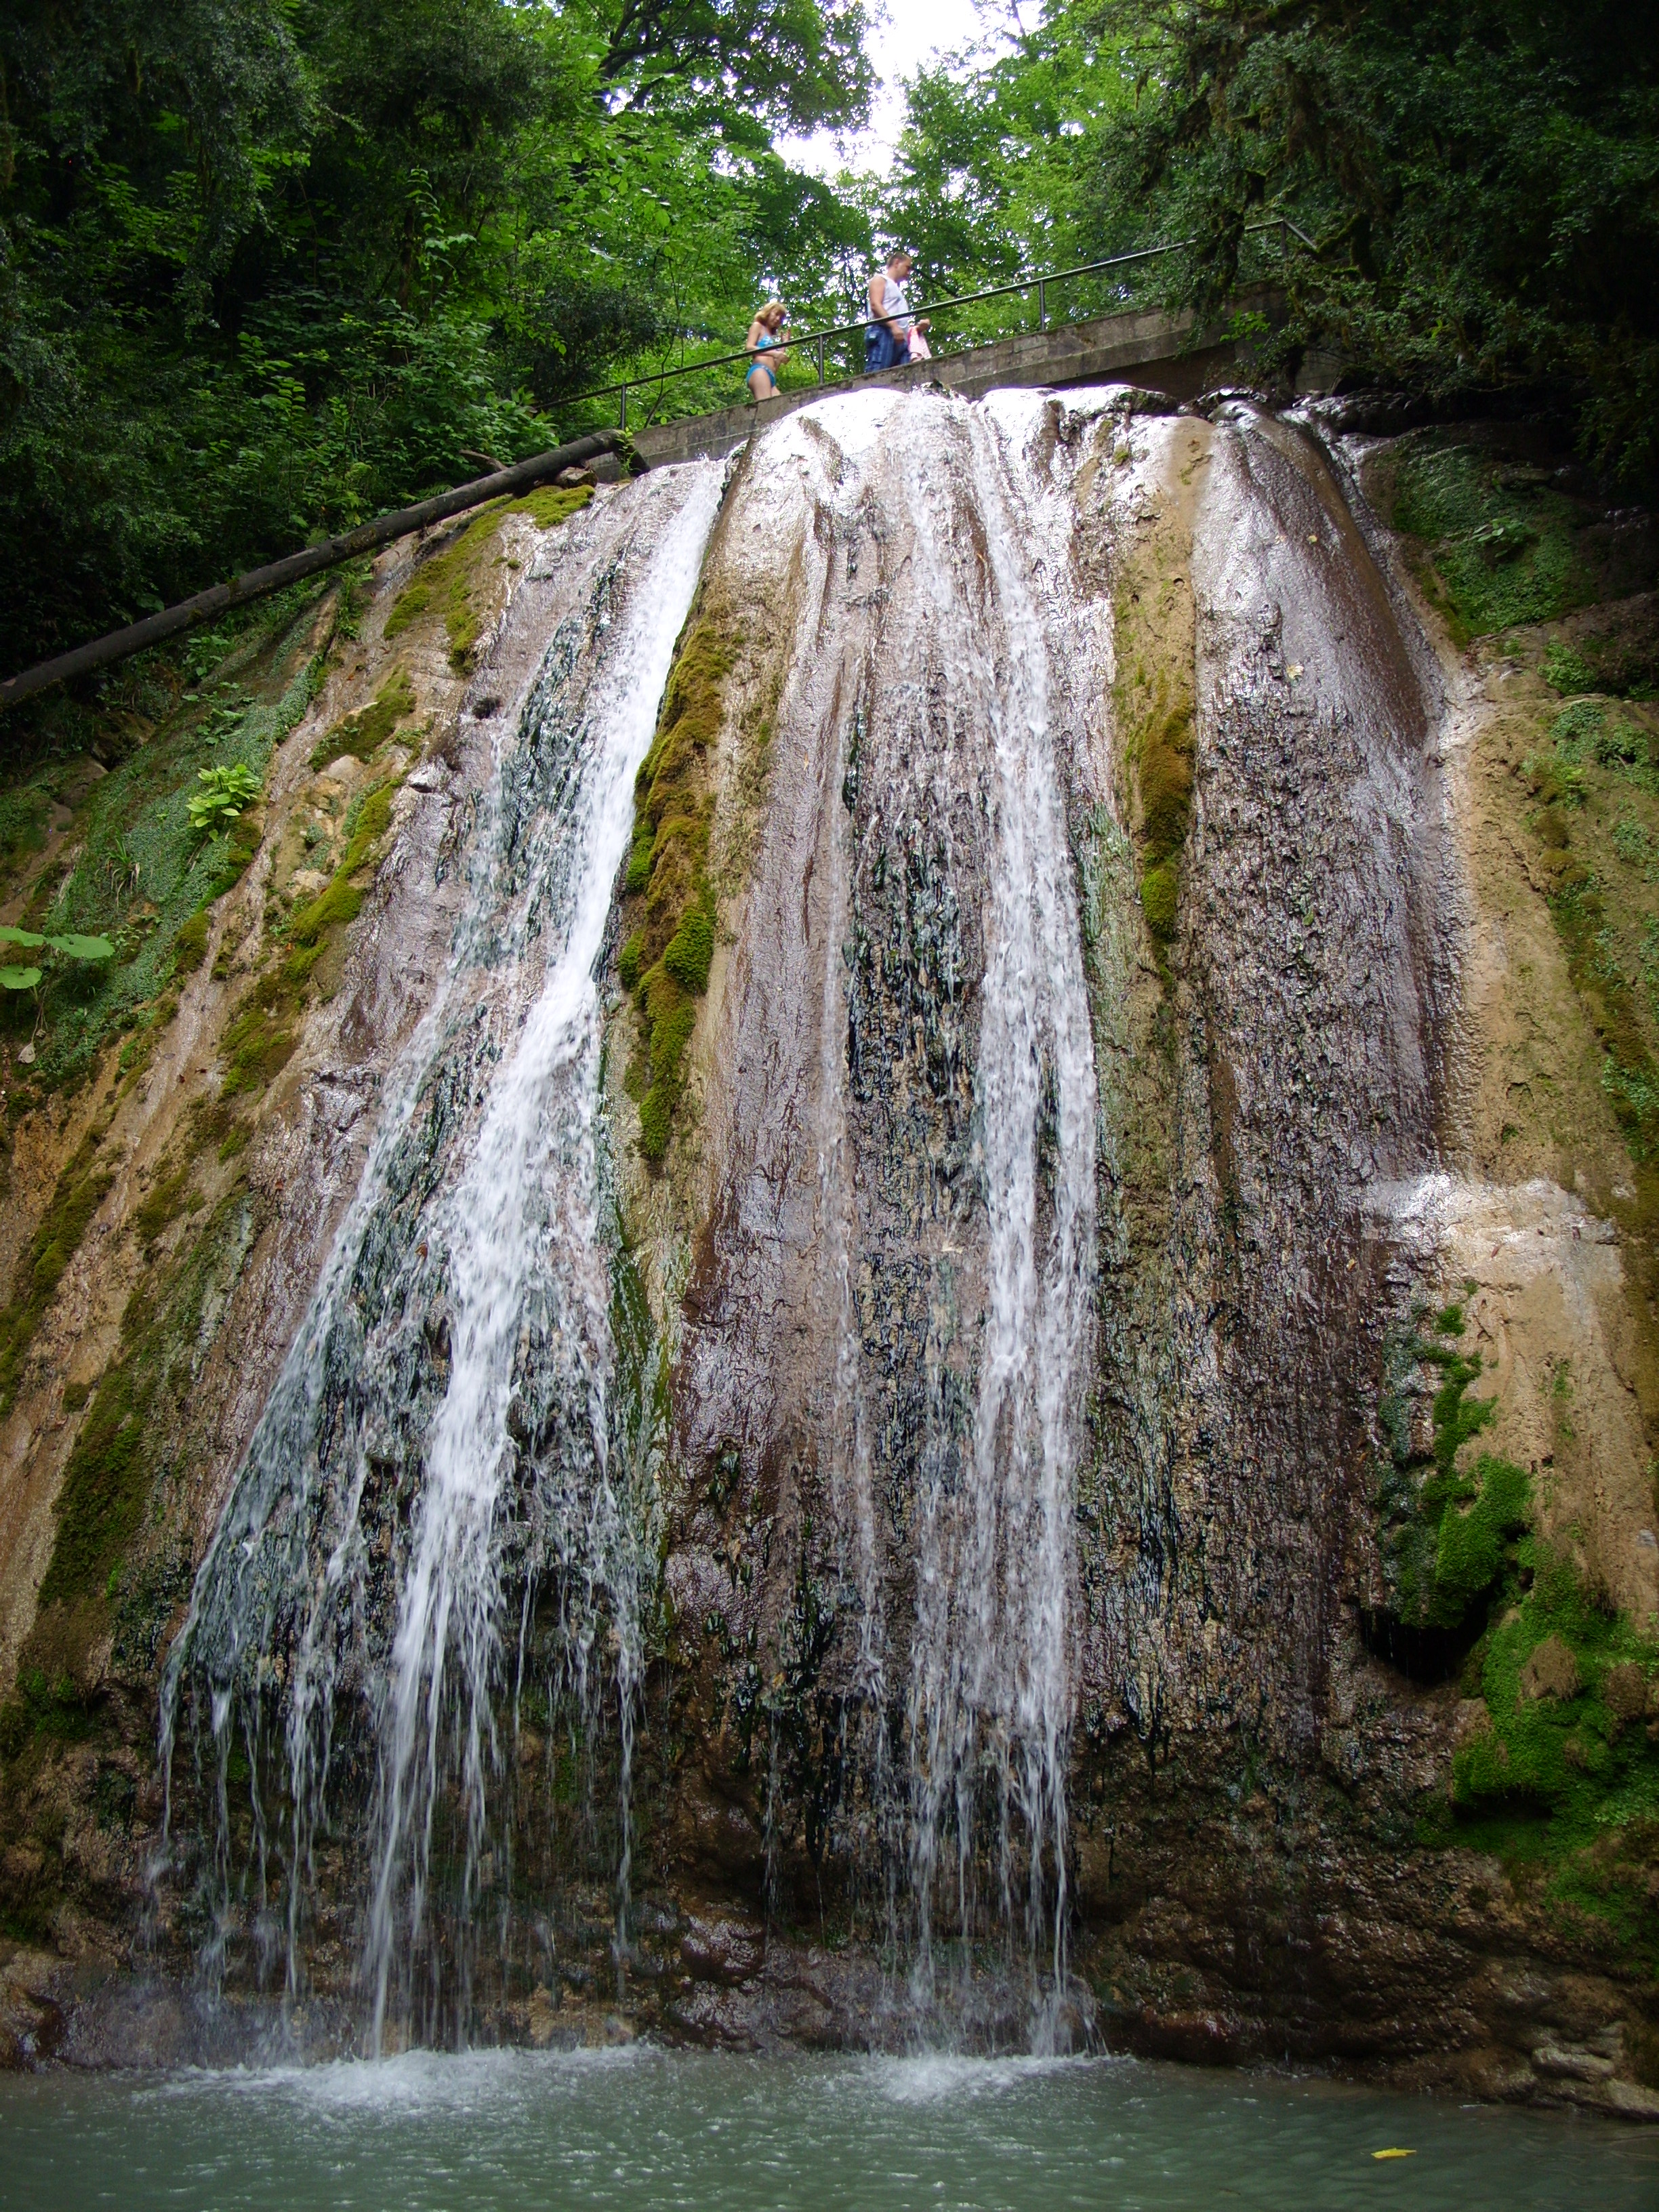
[[[940,2002],[938,1933],[962,1938],[953,1960],[971,1978],[973,1942],[1006,1929],[1011,1966],[1029,1975],[1031,2037],[1044,2044],[1066,1986],[1073,1486],[1095,1274],[1095,1068],[1062,774],[1079,686],[1097,672],[1066,666],[1075,606],[1055,582],[1064,553],[1040,476],[1040,409],[1022,398],[827,403],[761,440],[732,495],[714,606],[730,588],[719,562],[754,535],[765,544],[772,515],[794,518],[776,529],[799,529],[803,495],[834,518],[830,542],[845,533],[852,544],[841,582],[825,568],[816,637],[803,624],[794,646],[812,670],[796,821],[823,860],[834,938],[823,958],[787,869],[776,911],[794,964],[772,1004],[790,1051],[812,1035],[803,1084],[816,1095],[816,1137],[801,1221],[816,1232],[803,1272],[794,1292],[757,1279],[730,1303],[695,1310],[730,1316],[701,1338],[714,1394],[699,1418],[717,1460],[745,1425],[739,1405],[721,1409],[726,1376],[770,1369],[792,1387],[790,1352],[768,1354],[768,1338],[750,1345],[745,1332],[763,1314],[790,1332],[785,1343],[821,1332],[823,1542],[849,1639],[827,1756],[860,1763],[860,1880],[880,1863],[889,1929],[909,1920],[911,2006],[922,2015]],[[299,1993],[301,1920],[330,1887],[316,1880],[319,1840],[336,1849],[345,1838],[376,2048],[398,2022],[429,2037],[465,2033],[473,1931],[522,1834],[502,1809],[518,1763],[502,1714],[518,1712],[526,1666],[546,1672],[553,1646],[546,1712],[568,1697],[584,1714],[571,1745],[604,1736],[617,1761],[611,1863],[626,1898],[641,1601],[661,1557],[639,1411],[668,1409],[684,1391],[701,1398],[701,1387],[681,1352],[661,1387],[637,1387],[637,1376],[615,1387],[599,982],[635,772],[719,498],[714,467],[650,476],[560,546],[562,599],[484,790],[449,978],[387,1084],[358,1199],[170,1661],[164,1752],[186,1692],[210,1717],[217,1750],[221,1922],[248,1893],[259,1918],[265,1856],[283,1863],[288,1984]],[[854,591],[872,513],[878,582]],[[883,666],[891,679],[872,692],[867,670]],[[860,757],[887,763],[863,812]],[[889,880],[907,887],[902,898],[889,898]],[[852,960],[872,931],[883,967],[854,1004]],[[889,995],[872,995],[876,987]],[[801,1022],[807,1002],[816,1013]],[[927,1024],[942,1024],[927,1046],[938,1057],[918,1075],[911,1055]],[[741,1031],[726,1042],[741,1073],[750,1046]],[[752,1057],[772,1082],[787,1064]],[[949,1097],[947,1124],[933,1121],[936,1097]],[[794,1172],[772,1135],[790,1124],[765,1104],[757,1126],[763,1150],[734,1170],[737,1206],[770,1223]],[[872,1141],[896,1164],[874,1197]],[[677,1265],[664,1267],[668,1285],[684,1281]],[[872,1307],[876,1265],[914,1285],[905,1312],[894,1310],[896,1327],[920,1316],[905,1398],[883,1380],[894,1336],[883,1338],[889,1325]],[[672,1312],[659,1321],[666,1360],[681,1323]],[[730,1367],[732,1347],[754,1365]],[[686,1453],[679,1480],[697,1484],[703,1447],[677,1431],[668,1449]],[[730,1535],[726,1553],[732,1595],[675,1599],[672,1610],[719,1635],[728,1655],[743,1652],[743,1694],[765,1699],[765,1885],[781,1900],[781,1792],[818,1756],[796,1732],[785,1776],[783,1730],[794,1723],[783,1668],[805,1681],[805,1661],[787,1648],[774,1659],[759,1641],[772,1630],[741,1610],[750,1582],[737,1577]],[[805,1548],[799,1573],[807,1593]],[[803,1632],[816,1632],[812,1617],[801,1615]],[[281,1756],[265,1763],[285,1798],[281,1838],[265,1836],[261,1792],[274,1723]],[[241,1896],[226,1798],[237,1741],[257,1829]],[[551,1778],[551,1801],[560,1790]],[[821,1805],[832,1812],[827,1796]],[[511,1916],[504,1898],[504,1931]]]

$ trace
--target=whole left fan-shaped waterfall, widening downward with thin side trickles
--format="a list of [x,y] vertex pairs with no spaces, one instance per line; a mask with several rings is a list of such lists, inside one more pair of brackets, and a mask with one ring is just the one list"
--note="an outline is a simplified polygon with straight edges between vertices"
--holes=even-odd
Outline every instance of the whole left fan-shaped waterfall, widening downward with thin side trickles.
[[[529,1593],[560,1582],[566,1668],[591,1694],[602,1617],[628,1750],[639,1688],[637,1500],[613,1464],[611,1267],[595,1152],[597,969],[675,637],[721,498],[714,465],[653,476],[555,542],[557,619],[498,770],[449,973],[387,1082],[380,1133],[294,1349],[197,1575],[164,1690],[170,1774],[181,1699],[226,1778],[250,1756],[257,1854],[285,1874],[290,1989],[330,1785],[372,1730],[365,1982],[387,2006],[465,2020],[427,1927],[434,1825],[460,1798],[458,1920],[476,1911],[498,1703],[522,1674]],[[520,1597],[518,1674],[509,1599]],[[268,1705],[283,1710],[285,1845],[265,1832]],[[343,1725],[347,1723],[347,1725]],[[338,1776],[334,1770],[343,1770]],[[465,1962],[462,1962],[465,1982]]]

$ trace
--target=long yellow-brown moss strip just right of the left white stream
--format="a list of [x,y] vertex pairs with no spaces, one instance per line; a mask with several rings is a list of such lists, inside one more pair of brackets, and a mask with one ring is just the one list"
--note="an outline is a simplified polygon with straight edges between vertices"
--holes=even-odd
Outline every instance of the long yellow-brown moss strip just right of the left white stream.
[[679,639],[657,734],[635,781],[626,942],[617,971],[639,1009],[641,1053],[628,1071],[628,1093],[639,1106],[639,1150],[650,1161],[668,1150],[697,1000],[714,960],[710,750],[721,732],[726,679],[739,646],[737,624],[708,599],[699,604]]

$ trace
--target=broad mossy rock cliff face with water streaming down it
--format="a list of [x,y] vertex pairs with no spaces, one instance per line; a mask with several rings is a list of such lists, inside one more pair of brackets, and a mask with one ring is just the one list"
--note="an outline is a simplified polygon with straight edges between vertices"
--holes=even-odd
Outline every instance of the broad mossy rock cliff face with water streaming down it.
[[1652,544],[1387,429],[832,398],[29,785],[18,2051],[1659,2112]]

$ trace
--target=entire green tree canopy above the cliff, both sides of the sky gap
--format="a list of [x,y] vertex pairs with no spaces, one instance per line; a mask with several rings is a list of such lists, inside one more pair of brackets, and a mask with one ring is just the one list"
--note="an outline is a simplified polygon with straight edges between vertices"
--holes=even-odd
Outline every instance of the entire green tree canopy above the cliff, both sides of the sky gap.
[[[1659,478],[1659,40],[1615,0],[1046,0],[909,86],[891,177],[779,142],[867,111],[865,0],[40,0],[0,15],[0,664],[588,427],[768,290],[858,312],[1248,226],[1279,367],[1533,394]],[[1073,294],[1062,312],[1106,305]],[[1013,314],[1015,310],[1006,310]],[[998,316],[964,321],[989,332]],[[684,396],[684,405],[706,403]]]

